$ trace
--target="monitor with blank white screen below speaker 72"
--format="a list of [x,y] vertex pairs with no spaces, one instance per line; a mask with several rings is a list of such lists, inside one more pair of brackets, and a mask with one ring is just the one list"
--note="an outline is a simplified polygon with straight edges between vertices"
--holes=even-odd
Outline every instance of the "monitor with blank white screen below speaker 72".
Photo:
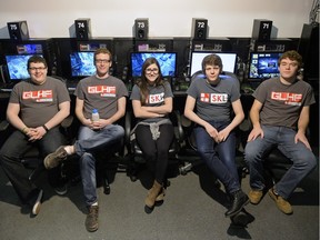
[[197,71],[202,70],[202,60],[208,54],[218,54],[222,60],[222,71],[233,72],[236,71],[237,53],[236,52],[209,52],[209,51],[193,51],[191,52],[191,67],[190,77]]

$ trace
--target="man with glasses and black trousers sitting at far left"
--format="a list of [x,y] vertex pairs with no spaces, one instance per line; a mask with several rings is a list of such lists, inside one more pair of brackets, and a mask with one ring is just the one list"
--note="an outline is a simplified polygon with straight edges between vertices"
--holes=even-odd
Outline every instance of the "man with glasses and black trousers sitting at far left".
[[[46,157],[64,143],[59,127],[69,116],[70,96],[62,81],[47,76],[44,58],[32,56],[27,68],[30,79],[17,83],[9,99],[7,119],[16,131],[2,146],[0,161],[22,203],[31,206],[32,214],[37,216],[43,191],[29,180],[21,158],[33,146]],[[49,183],[60,193],[63,181],[59,169],[48,173]]]

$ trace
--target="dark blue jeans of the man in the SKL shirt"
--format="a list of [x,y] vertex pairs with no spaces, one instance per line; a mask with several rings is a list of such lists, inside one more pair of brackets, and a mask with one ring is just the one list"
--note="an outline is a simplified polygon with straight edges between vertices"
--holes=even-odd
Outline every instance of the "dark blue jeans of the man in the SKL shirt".
[[[218,131],[224,129],[230,122],[211,121]],[[201,126],[194,128],[197,151],[208,164],[214,176],[224,184],[228,193],[240,190],[239,177],[236,166],[236,134],[230,132],[226,141],[217,143]]]

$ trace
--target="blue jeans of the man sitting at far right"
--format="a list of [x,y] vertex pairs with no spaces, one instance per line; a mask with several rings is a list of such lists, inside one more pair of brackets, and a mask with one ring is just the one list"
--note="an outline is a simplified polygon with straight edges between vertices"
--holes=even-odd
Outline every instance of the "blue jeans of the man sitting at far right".
[[293,162],[274,186],[276,191],[282,198],[288,199],[299,182],[316,167],[316,156],[302,142],[294,143],[297,132],[293,129],[262,126],[262,130],[263,139],[258,137],[254,141],[249,141],[244,149],[246,162],[250,171],[250,186],[254,190],[263,190],[266,187],[263,157],[278,146],[278,149]]

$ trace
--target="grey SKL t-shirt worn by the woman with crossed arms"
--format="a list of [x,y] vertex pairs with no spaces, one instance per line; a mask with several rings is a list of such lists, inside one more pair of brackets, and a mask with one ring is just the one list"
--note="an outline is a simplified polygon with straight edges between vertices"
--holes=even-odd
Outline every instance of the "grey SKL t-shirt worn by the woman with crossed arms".
[[[149,87],[149,96],[147,98],[147,107],[157,107],[162,106],[164,103],[166,98],[173,98],[173,93],[170,87],[170,83],[164,81],[163,86],[158,87]],[[139,100],[140,101],[140,88],[134,84],[130,100]],[[143,119],[146,122],[158,122],[163,118],[153,118],[153,119]],[[140,119],[142,120],[142,119]]]

